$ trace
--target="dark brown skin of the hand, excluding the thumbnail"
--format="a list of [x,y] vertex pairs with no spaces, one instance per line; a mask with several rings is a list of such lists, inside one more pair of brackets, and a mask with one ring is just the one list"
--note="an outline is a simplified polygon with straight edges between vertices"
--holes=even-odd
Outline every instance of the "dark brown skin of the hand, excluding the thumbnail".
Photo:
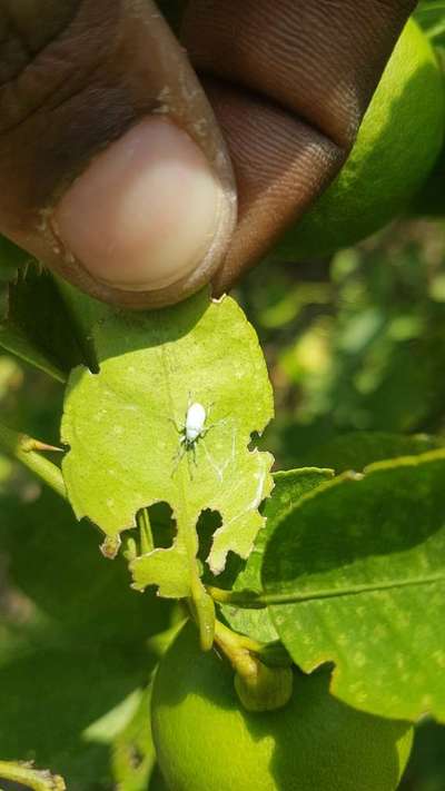
[[[0,0],[0,231],[106,301],[175,303],[210,278],[227,290],[340,168],[415,4],[190,0],[181,41],[198,81],[151,0]],[[238,219],[228,205],[192,277],[127,291],[97,281],[51,217],[91,159],[154,111],[190,135],[227,194],[231,160]]]

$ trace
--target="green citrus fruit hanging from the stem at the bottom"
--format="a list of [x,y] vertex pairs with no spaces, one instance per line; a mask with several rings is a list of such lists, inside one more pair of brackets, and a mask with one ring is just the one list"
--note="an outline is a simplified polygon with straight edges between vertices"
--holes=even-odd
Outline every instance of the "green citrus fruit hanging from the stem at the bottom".
[[248,713],[234,673],[199,650],[187,624],[165,654],[152,694],[158,761],[170,791],[394,791],[412,728],[355,711],[328,691],[329,672],[295,672],[290,703]]

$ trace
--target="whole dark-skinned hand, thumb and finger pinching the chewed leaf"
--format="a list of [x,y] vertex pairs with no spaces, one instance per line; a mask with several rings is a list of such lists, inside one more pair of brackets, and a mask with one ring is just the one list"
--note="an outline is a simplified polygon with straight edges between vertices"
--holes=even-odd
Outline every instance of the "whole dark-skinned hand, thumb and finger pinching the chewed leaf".
[[0,0],[0,231],[106,301],[227,290],[344,162],[414,6],[190,0],[198,81],[151,0]]

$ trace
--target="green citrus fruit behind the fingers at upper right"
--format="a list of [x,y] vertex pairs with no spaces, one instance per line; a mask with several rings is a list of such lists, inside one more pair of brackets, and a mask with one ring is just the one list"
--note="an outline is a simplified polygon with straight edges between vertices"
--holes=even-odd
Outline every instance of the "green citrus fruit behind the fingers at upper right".
[[386,225],[426,180],[441,150],[444,125],[438,60],[421,28],[409,20],[345,166],[276,251],[296,259],[322,257]]

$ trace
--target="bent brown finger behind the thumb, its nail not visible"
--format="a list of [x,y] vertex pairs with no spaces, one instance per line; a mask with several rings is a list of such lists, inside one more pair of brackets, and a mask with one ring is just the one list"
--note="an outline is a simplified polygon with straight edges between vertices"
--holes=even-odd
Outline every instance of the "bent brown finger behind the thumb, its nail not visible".
[[413,0],[191,0],[181,39],[235,167],[226,290],[345,161]]

